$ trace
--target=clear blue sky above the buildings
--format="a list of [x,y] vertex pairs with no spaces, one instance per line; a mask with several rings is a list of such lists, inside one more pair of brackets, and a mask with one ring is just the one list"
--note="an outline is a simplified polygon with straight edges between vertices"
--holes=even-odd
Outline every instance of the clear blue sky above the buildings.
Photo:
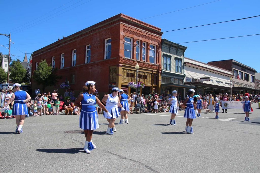
[[[24,54],[22,53],[25,53],[25,51],[27,53],[32,53],[35,50],[53,43],[58,39],[58,37],[62,38],[62,36],[73,34],[118,13],[124,13],[128,16],[160,27],[162,32],[260,15],[260,1],[257,0],[213,1],[214,0],[150,0],[144,2],[138,0],[5,0],[0,1],[0,6],[5,7],[1,8],[2,17],[0,33],[11,33],[12,42],[14,42],[14,44],[11,44],[11,54],[20,56],[12,57],[23,60],[21,57],[24,57]],[[189,8],[192,6],[197,7]],[[172,12],[176,10],[181,11]],[[172,13],[160,15],[167,12]],[[160,16],[148,18],[155,15]],[[187,41],[235,37],[259,33],[260,17],[256,17],[235,22],[167,32],[162,35],[162,38],[166,38],[175,43],[182,43]],[[260,72],[258,63],[260,58],[259,40],[260,35],[183,43],[181,45],[188,47],[185,52],[186,57],[202,62],[235,59],[243,64],[255,68],[257,72]],[[0,45],[8,47],[8,38],[0,36]],[[0,52],[8,54],[8,49],[0,46]],[[27,54],[27,57],[29,58],[30,54]]]

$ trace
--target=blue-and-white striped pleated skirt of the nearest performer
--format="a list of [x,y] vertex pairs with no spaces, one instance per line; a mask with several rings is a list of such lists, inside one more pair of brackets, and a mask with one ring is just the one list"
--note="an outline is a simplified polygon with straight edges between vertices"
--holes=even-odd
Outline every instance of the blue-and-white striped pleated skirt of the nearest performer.
[[85,112],[81,110],[79,127],[83,130],[95,130],[99,128],[97,111]]

